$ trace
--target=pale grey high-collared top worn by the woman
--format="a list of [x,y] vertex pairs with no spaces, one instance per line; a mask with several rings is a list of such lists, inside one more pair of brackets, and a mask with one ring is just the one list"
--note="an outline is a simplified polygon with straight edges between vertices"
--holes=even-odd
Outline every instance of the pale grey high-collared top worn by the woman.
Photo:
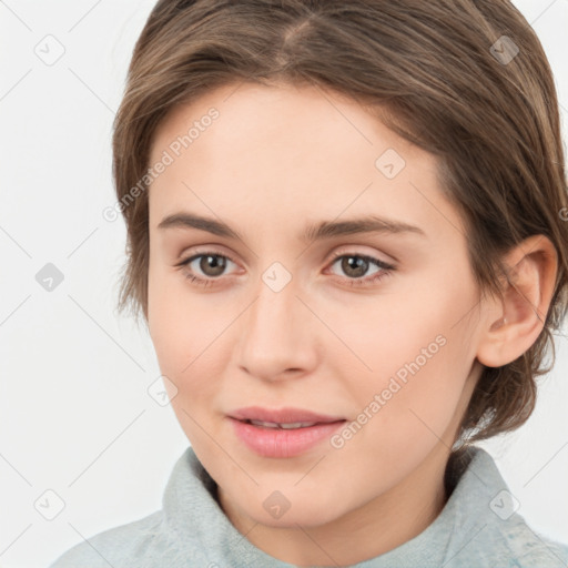
[[[470,446],[446,470],[449,495],[419,535],[354,568],[562,568],[568,546],[532,530],[493,457]],[[347,537],[348,538],[348,537]],[[216,484],[190,446],[163,508],[75,545],[50,568],[292,568],[251,544],[216,500]]]

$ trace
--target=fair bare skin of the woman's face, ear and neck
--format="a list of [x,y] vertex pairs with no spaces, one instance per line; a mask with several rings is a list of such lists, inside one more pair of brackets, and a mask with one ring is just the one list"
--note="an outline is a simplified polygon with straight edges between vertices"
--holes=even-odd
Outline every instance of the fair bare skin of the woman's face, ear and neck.
[[[503,302],[479,302],[464,224],[440,192],[435,158],[356,102],[316,88],[210,92],[160,124],[151,163],[212,106],[219,119],[149,192],[148,323],[162,374],[175,385],[173,409],[223,510],[256,547],[298,566],[373,558],[443,509],[444,469],[481,363],[504,365],[537,338],[554,247],[535,237],[513,251],[517,287]],[[387,149],[406,162],[393,180],[375,166]],[[243,240],[158,227],[182,211],[222,220]],[[307,223],[369,213],[425,234],[297,239]],[[221,275],[203,257],[176,266],[210,252],[230,258]],[[381,268],[368,264],[354,276],[334,252],[395,270],[369,282]],[[274,262],[292,276],[277,293],[262,280]],[[213,285],[187,280],[192,271]],[[349,286],[357,278],[367,284]],[[342,448],[324,440],[297,457],[261,457],[226,418],[258,405],[356,420],[440,335],[444,346]],[[278,519],[263,507],[274,490],[291,504]]]

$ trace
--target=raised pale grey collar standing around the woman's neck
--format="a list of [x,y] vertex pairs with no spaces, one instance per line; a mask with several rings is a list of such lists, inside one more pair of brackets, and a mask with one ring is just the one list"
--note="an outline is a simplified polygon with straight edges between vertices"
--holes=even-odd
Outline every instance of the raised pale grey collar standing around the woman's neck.
[[[445,483],[449,498],[425,530],[397,548],[353,568],[466,566],[468,554],[484,546],[488,531],[503,530],[505,520],[491,510],[490,504],[498,510],[504,497],[506,500],[507,485],[493,457],[478,446],[468,446],[457,456],[452,456]],[[501,501],[495,501],[500,491],[507,494],[501,494]],[[265,554],[236,530],[217,503],[216,483],[191,446],[175,464],[168,481],[163,513],[182,556],[192,557],[199,547],[207,551],[211,566],[216,562],[232,568],[293,567]],[[515,523],[520,517],[515,515],[510,518]]]

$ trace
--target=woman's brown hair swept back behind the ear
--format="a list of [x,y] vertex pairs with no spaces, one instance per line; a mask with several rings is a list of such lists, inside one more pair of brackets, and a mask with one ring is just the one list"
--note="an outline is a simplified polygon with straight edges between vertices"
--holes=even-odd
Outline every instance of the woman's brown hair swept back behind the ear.
[[471,443],[524,424],[568,310],[557,94],[525,18],[508,0],[160,0],[114,122],[113,174],[128,229],[120,311],[142,310],[148,320],[148,192],[124,197],[144,179],[156,126],[174,105],[239,81],[343,93],[435,154],[481,292],[499,295],[504,253],[530,235],[550,239],[559,270],[545,327],[516,361],[484,367],[459,437],[468,433]]

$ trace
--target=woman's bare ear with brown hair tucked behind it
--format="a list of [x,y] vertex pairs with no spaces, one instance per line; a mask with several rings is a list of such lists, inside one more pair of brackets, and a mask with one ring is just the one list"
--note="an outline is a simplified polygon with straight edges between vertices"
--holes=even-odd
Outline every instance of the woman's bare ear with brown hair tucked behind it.
[[483,329],[477,358],[488,367],[506,365],[537,341],[545,325],[555,292],[558,270],[556,248],[545,235],[534,235],[504,258],[509,282],[503,285],[503,301],[484,305]]

